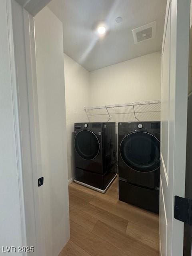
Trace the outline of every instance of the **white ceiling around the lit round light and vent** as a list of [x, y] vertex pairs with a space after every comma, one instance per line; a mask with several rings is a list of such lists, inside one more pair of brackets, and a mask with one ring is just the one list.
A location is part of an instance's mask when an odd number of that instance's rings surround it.
[[[166, 0], [52, 0], [48, 7], [63, 23], [64, 52], [89, 71], [161, 50]], [[134, 44], [132, 29], [152, 21], [156, 37]], [[103, 38], [94, 30], [99, 22], [108, 26]]]

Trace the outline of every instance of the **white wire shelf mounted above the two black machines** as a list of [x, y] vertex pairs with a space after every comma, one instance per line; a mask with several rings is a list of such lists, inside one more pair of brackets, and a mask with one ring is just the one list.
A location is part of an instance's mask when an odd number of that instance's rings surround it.
[[159, 121], [160, 100], [84, 107], [89, 122]]

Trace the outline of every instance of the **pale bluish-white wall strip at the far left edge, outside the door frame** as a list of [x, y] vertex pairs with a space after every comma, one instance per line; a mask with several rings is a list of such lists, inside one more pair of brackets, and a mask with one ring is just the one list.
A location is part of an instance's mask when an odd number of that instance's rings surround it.
[[14, 109], [16, 95], [13, 95], [15, 88], [10, 69], [9, 12], [6, 4], [7, 0], [0, 1], [0, 254], [3, 254], [2, 246], [21, 246], [24, 242], [20, 198], [22, 186], [19, 184], [19, 153], [16, 148], [15, 120], [18, 113]]

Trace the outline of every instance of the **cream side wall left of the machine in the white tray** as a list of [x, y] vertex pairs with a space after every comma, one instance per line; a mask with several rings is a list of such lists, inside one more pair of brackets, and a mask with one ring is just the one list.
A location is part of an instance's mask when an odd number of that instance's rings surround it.
[[64, 54], [65, 100], [67, 126], [68, 180], [74, 174], [74, 122], [87, 122], [84, 106], [89, 105], [90, 72]]

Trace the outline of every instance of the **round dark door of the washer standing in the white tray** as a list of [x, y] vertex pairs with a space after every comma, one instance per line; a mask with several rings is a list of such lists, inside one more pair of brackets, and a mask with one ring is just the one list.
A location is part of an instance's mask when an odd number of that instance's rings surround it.
[[84, 160], [92, 160], [99, 154], [100, 143], [94, 132], [82, 130], [75, 137], [75, 150]]

